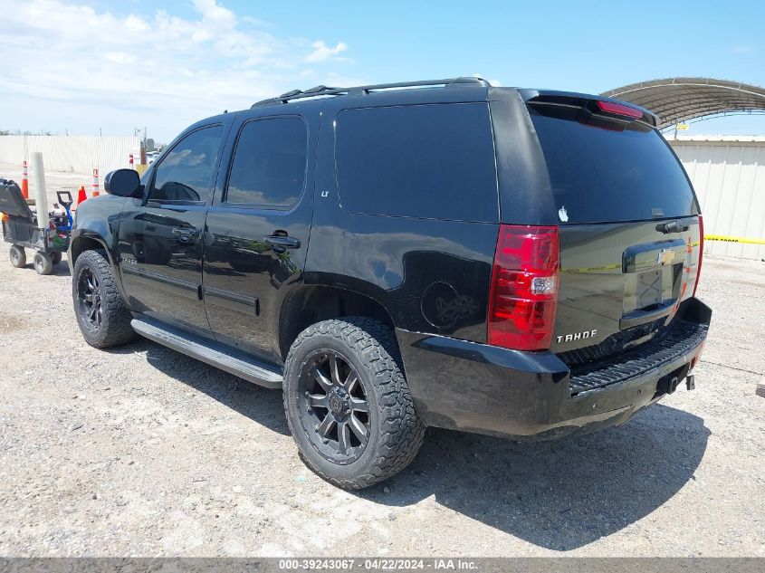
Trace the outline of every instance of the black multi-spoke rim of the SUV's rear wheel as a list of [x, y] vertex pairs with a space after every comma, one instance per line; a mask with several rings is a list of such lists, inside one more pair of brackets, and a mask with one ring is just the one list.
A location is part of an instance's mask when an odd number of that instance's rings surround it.
[[303, 362], [298, 413], [303, 432], [330, 462], [352, 463], [364, 453], [371, 422], [367, 393], [339, 352], [319, 350]]

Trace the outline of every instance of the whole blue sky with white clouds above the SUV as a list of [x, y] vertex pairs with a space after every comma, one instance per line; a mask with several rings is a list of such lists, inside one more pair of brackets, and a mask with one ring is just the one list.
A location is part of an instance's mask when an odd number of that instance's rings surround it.
[[[173, 138], [319, 83], [481, 74], [600, 92], [706, 76], [765, 85], [765, 3], [0, 0], [0, 129]], [[765, 117], [688, 133], [765, 133]]]

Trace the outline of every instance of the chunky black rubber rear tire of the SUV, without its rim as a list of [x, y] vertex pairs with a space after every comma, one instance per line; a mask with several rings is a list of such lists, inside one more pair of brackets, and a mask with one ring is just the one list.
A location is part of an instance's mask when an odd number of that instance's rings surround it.
[[[307, 416], [299, 412], [299, 379], [306, 361], [323, 350], [349, 359], [367, 396], [368, 444], [352, 463], [333, 462], [311, 442]], [[284, 410], [301, 459], [314, 473], [348, 490], [381, 482], [403, 470], [419, 452], [426, 427], [417, 415], [401, 367], [395, 335], [386, 325], [363, 317], [324, 320], [303, 330], [287, 356]]]

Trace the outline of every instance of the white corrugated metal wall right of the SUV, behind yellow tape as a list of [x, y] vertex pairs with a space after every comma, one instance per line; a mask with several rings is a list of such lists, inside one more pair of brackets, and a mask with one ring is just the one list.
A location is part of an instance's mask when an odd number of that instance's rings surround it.
[[[699, 197], [704, 234], [765, 239], [765, 138], [720, 139], [669, 142]], [[709, 241], [704, 252], [765, 259], [763, 244]]]

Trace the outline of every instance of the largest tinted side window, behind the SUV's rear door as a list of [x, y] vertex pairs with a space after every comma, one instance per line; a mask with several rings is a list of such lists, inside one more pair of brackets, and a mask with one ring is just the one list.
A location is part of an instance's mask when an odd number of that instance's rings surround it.
[[497, 177], [485, 103], [345, 110], [336, 159], [344, 209], [496, 222]]

